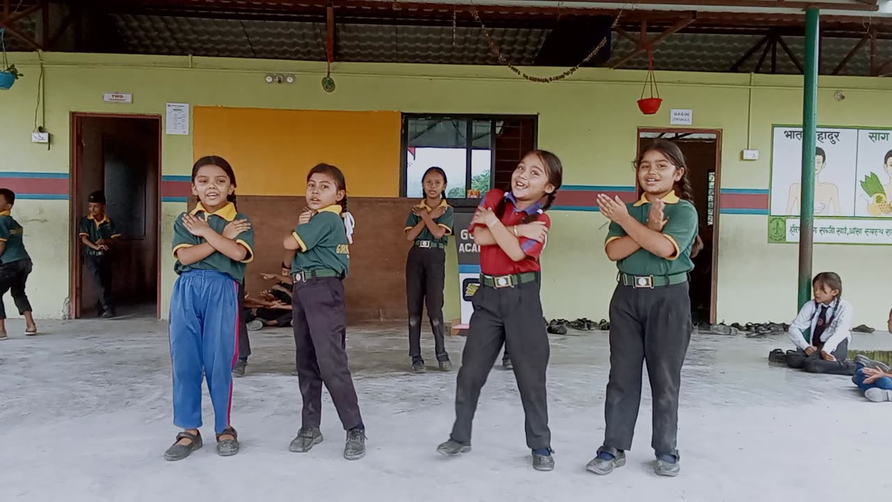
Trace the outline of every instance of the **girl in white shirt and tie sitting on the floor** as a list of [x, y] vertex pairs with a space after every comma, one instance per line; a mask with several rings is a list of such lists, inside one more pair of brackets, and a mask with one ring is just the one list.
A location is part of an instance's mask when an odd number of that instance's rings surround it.
[[842, 299], [842, 280], [834, 272], [821, 272], [814, 276], [812, 288], [814, 301], [803, 305], [787, 331], [796, 350], [784, 353], [777, 348], [769, 359], [783, 360], [790, 368], [806, 372], [853, 375], [855, 363], [846, 360], [853, 308]]

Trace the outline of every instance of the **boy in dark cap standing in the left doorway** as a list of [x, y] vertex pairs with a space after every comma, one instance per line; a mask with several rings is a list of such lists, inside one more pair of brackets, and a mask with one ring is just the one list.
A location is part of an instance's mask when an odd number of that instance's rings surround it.
[[93, 276], [99, 297], [98, 314], [110, 319], [115, 316], [111, 305], [111, 240], [120, 237], [114, 223], [105, 213], [105, 195], [102, 190], [90, 194], [88, 213], [80, 219], [80, 242], [84, 245], [84, 267]]

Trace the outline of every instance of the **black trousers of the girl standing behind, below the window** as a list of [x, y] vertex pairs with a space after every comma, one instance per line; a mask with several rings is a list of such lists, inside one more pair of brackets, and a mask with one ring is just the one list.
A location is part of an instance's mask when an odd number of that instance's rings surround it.
[[443, 282], [446, 277], [446, 250], [439, 247], [409, 249], [406, 259], [406, 300], [409, 305], [409, 356], [421, 357], [421, 315], [427, 317], [434, 333], [437, 361], [449, 361], [443, 341]]

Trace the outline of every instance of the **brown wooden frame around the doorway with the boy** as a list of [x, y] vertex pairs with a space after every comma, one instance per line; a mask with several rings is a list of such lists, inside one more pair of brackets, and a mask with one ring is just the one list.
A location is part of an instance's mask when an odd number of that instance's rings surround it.
[[78, 227], [80, 223], [80, 207], [78, 207], [78, 178], [80, 172], [81, 158], [78, 155], [78, 146], [80, 139], [80, 123], [82, 119], [99, 118], [99, 119], [149, 119], [155, 121], [158, 125], [158, 214], [154, 226], [157, 236], [157, 249], [155, 256], [157, 259], [157, 279], [155, 285], [155, 317], [161, 319], [161, 114], [149, 113], [90, 113], [90, 112], [72, 112], [70, 116], [70, 148], [69, 161], [71, 170], [69, 174], [69, 238], [71, 245], [69, 249], [69, 305], [68, 315], [70, 319], [78, 318], [80, 310], [80, 295], [78, 295], [78, 285], [83, 280], [83, 267], [80, 261], [80, 239], [78, 238]]

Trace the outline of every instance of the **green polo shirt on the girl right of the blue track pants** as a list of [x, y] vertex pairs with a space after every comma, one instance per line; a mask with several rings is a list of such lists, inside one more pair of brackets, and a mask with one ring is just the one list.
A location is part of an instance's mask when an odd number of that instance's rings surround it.
[[292, 236], [300, 247], [291, 262], [292, 273], [330, 269], [347, 277], [350, 243], [343, 228], [340, 205], [320, 209], [310, 222], [298, 225]]

